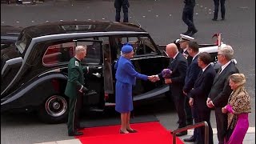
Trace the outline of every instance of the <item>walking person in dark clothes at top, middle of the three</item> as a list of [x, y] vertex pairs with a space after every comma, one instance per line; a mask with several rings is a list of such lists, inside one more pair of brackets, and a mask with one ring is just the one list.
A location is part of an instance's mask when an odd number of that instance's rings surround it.
[[198, 32], [198, 30], [194, 26], [194, 6], [195, 6], [195, 0], [184, 0], [185, 6], [183, 8], [182, 12], [182, 20], [187, 25], [187, 30], [185, 35], [193, 36], [195, 33]]

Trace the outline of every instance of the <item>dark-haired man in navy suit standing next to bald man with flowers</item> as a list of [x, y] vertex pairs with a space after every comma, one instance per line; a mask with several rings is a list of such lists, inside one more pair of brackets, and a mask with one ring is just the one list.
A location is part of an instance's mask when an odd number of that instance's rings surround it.
[[[183, 94], [185, 94], [187, 103], [186, 105], [189, 105], [189, 98], [187, 97], [187, 94], [190, 93], [190, 90], [194, 87], [194, 82], [198, 78], [198, 74], [200, 73], [200, 67], [198, 66], [198, 54], [199, 54], [199, 46], [198, 42], [190, 41], [187, 47], [187, 51], [190, 54], [190, 57], [192, 57], [192, 62], [188, 66], [186, 70], [186, 78], [185, 78], [185, 85], [183, 86]], [[198, 122], [198, 114], [196, 111], [193, 110], [193, 107], [188, 107], [188, 109], [191, 110], [194, 122]], [[188, 123], [188, 125], [192, 125], [193, 123]], [[194, 142], [198, 140], [198, 128], [195, 128], [194, 134], [190, 138], [185, 138], [185, 142]]]

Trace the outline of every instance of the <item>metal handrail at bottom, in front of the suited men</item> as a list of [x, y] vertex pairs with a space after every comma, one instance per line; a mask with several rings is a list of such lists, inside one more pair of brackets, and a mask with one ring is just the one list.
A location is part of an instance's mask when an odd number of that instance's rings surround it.
[[209, 143], [209, 141], [208, 141], [208, 139], [209, 139], [209, 126], [208, 126], [208, 123], [206, 121], [198, 122], [194, 125], [182, 127], [180, 129], [172, 131], [171, 133], [173, 135], [173, 144], [176, 144], [176, 133], [180, 133], [182, 131], [197, 128], [197, 127], [201, 127], [201, 126], [205, 126], [205, 144], [208, 144]]

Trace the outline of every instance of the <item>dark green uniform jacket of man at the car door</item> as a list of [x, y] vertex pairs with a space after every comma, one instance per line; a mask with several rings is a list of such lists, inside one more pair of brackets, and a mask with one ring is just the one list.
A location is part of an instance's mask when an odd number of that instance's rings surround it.
[[83, 73], [87, 73], [87, 67], [82, 68], [80, 60], [71, 58], [68, 65], [68, 81], [66, 84], [65, 94], [69, 98], [77, 98], [78, 90], [84, 85]]

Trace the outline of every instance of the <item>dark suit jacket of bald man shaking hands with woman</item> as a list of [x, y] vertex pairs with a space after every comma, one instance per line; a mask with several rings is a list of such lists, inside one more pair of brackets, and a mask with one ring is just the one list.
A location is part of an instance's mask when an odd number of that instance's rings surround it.
[[[171, 85], [183, 86], [187, 69], [186, 58], [181, 53], [178, 53], [176, 58], [170, 59], [170, 66], [168, 68], [172, 71], [172, 74], [170, 74]], [[160, 73], [158, 76], [160, 78], [162, 74]]]

